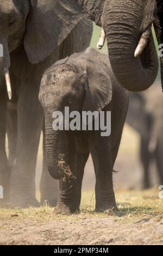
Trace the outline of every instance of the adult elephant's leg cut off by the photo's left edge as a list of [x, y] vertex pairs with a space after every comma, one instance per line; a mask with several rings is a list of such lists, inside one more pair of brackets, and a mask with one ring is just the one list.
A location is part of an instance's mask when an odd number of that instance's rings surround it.
[[0, 86], [0, 120], [0, 185], [3, 186], [3, 199], [0, 202], [3, 204], [9, 200], [11, 169], [5, 150], [7, 101], [2, 84]]

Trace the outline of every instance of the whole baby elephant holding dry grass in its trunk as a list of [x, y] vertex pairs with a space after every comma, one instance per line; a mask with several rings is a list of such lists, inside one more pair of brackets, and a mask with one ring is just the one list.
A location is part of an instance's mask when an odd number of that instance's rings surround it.
[[45, 112], [48, 171], [59, 179], [59, 212], [79, 210], [89, 154], [96, 174], [96, 210], [116, 209], [112, 172], [129, 93], [112, 74], [108, 56], [87, 48], [55, 63], [43, 75], [39, 100]]

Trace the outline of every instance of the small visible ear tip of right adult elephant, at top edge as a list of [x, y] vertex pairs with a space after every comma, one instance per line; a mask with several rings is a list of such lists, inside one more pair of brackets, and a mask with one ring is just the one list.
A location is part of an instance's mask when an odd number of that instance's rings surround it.
[[90, 20], [95, 21], [96, 25], [102, 27], [101, 16], [105, 0], [76, 0], [76, 2], [83, 7]]

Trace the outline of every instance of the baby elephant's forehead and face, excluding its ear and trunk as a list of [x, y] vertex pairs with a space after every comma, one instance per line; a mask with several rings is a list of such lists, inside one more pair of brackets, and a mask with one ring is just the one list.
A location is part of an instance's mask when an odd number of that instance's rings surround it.
[[53, 65], [43, 75], [39, 100], [45, 114], [64, 111], [65, 107], [77, 110], [82, 107], [84, 98], [85, 75], [77, 67]]

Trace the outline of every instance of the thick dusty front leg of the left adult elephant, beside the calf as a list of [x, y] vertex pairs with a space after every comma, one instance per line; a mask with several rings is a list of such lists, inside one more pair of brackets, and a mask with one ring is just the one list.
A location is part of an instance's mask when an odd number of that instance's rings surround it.
[[17, 104], [18, 136], [11, 200], [21, 207], [39, 205], [35, 198], [36, 157], [43, 124], [43, 111], [38, 99], [39, 86], [40, 78], [23, 84]]

